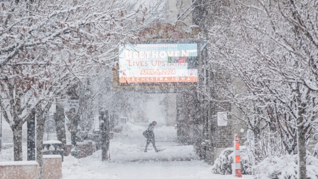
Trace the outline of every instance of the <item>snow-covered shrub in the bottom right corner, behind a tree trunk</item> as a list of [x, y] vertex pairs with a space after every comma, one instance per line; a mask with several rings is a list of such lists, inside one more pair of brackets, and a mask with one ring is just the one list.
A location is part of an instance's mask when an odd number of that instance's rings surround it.
[[[297, 155], [267, 157], [252, 168], [254, 179], [295, 179], [297, 178]], [[307, 155], [307, 179], [318, 178], [318, 159]]]

